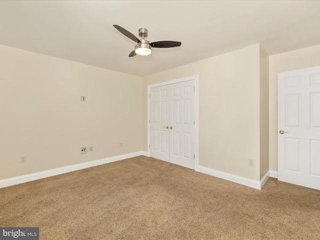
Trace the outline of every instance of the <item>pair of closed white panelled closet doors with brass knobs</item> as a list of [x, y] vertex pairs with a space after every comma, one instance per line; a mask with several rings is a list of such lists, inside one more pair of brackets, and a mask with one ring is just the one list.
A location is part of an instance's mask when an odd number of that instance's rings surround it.
[[150, 156], [194, 169], [194, 80], [150, 88]]

